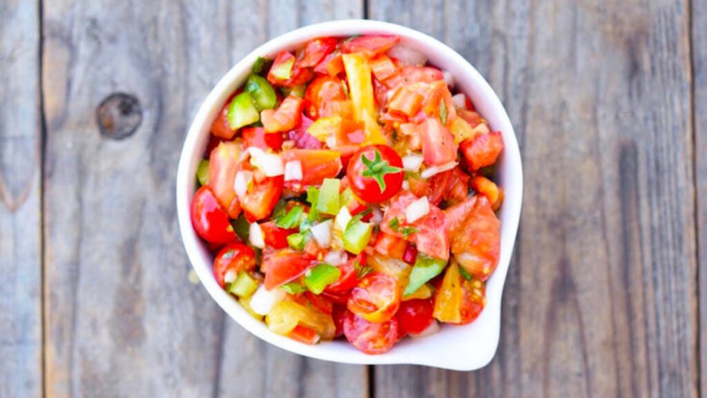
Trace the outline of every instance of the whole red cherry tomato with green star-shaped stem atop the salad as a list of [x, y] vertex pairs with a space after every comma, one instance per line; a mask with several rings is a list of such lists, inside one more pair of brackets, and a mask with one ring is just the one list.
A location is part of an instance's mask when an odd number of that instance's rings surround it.
[[387, 145], [368, 145], [349, 160], [346, 176], [351, 191], [368, 203], [380, 203], [393, 197], [404, 178], [402, 159]]

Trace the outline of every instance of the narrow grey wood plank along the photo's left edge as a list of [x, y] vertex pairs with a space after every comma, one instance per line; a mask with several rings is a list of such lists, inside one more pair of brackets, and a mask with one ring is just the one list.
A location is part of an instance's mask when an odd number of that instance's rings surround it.
[[0, 2], [0, 397], [42, 394], [42, 123], [36, 1]]

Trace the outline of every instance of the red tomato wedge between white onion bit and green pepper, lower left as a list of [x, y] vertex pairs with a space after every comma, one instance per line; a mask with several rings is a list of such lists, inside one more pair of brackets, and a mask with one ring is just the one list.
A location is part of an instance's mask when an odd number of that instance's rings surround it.
[[263, 251], [260, 270], [265, 273], [265, 288], [271, 290], [279, 285], [295, 280], [315, 265], [293, 249], [267, 249]]

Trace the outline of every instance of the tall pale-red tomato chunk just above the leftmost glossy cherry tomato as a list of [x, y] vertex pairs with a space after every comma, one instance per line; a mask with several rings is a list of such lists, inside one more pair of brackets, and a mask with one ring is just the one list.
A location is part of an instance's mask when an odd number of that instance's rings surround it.
[[209, 159], [209, 186], [230, 218], [240, 214], [240, 203], [233, 189], [238, 173], [241, 147], [238, 142], [221, 142]]

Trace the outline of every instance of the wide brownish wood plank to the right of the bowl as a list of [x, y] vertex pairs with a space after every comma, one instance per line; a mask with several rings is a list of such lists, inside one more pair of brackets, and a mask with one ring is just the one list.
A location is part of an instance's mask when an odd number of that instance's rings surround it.
[[444, 40], [489, 78], [526, 181], [496, 358], [475, 373], [379, 367], [377, 394], [695, 396], [686, 2], [369, 8]]

